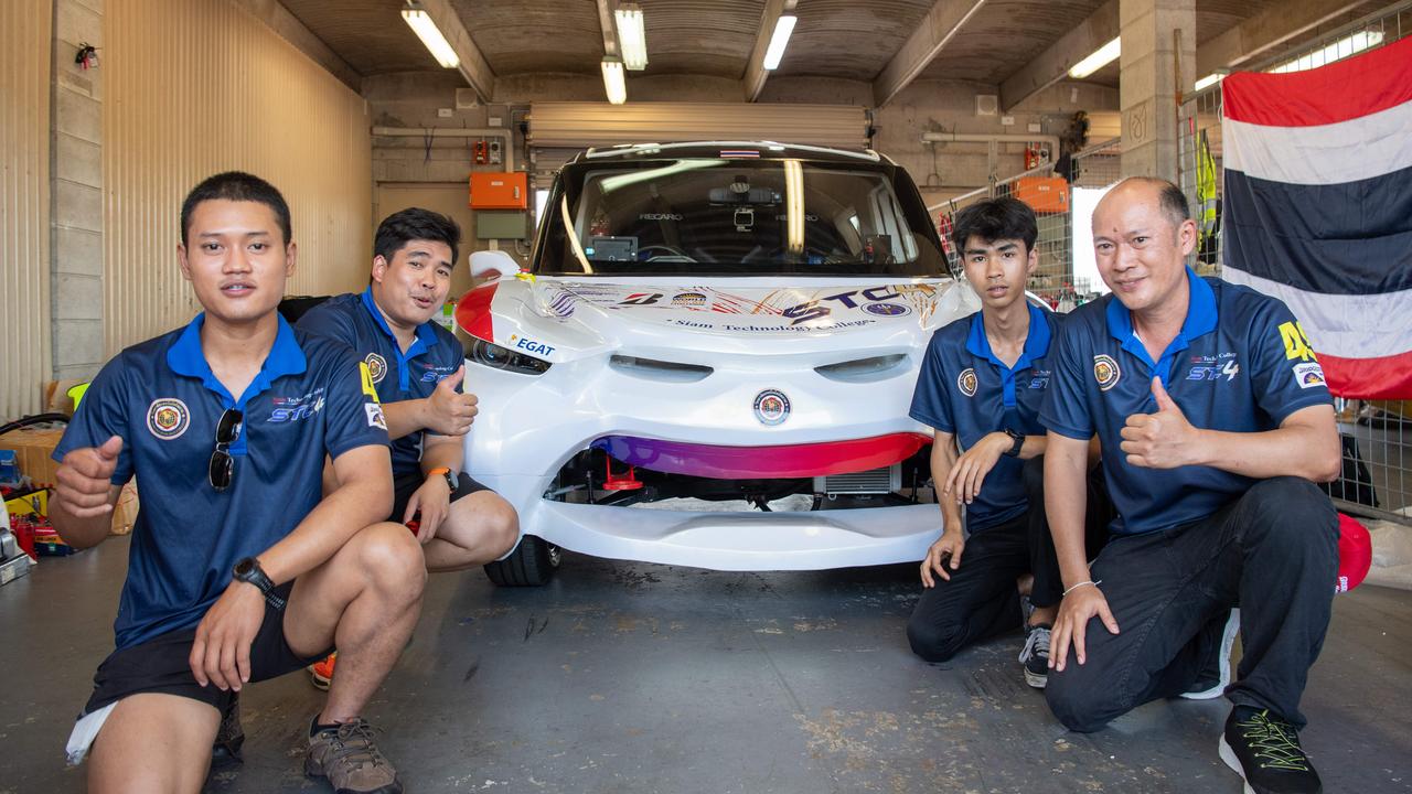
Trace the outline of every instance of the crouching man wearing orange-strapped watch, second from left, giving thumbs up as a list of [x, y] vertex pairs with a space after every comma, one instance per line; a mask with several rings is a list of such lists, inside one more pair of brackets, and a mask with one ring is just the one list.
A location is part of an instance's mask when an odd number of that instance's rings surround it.
[[[373, 277], [363, 292], [309, 309], [299, 328], [337, 339], [367, 365], [393, 439], [393, 521], [412, 523], [429, 571], [500, 559], [520, 540], [514, 507], [462, 472], [462, 437], [476, 417], [465, 391], [465, 353], [432, 322], [450, 291], [460, 227], [411, 208], [387, 216], [373, 239]], [[333, 660], [312, 667], [328, 685]]]

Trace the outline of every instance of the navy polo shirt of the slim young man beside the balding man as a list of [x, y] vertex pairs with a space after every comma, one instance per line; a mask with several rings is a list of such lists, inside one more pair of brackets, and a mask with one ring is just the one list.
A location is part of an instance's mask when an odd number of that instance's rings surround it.
[[[962, 449], [1005, 428], [1043, 435], [1039, 407], [1049, 389], [1049, 339], [1056, 322], [1053, 312], [1029, 307], [1029, 335], [1014, 367], [991, 352], [981, 312], [939, 328], [916, 377], [912, 418], [955, 434]], [[967, 530], [1001, 524], [1028, 509], [1022, 469], [1024, 463], [1008, 455], [995, 462], [980, 493], [966, 506]]]

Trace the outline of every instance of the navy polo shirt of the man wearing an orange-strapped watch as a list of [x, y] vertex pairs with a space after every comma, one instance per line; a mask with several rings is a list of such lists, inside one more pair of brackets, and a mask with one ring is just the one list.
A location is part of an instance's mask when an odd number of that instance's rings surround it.
[[[456, 335], [431, 321], [417, 326], [417, 338], [404, 353], [387, 318], [373, 302], [371, 287], [313, 307], [299, 318], [299, 328], [352, 346], [367, 363], [377, 397], [384, 404], [431, 397], [436, 384], [455, 374], [466, 360]], [[460, 390], [457, 386], [456, 391]], [[422, 432], [393, 439], [393, 475], [421, 470]]]

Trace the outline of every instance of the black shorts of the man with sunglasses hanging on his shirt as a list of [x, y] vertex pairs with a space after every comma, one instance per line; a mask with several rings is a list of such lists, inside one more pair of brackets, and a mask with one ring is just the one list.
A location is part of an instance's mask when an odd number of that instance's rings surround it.
[[[294, 582], [277, 588], [288, 600]], [[202, 687], [191, 674], [191, 646], [196, 640], [196, 627], [169, 632], [145, 643], [113, 651], [93, 674], [93, 695], [83, 713], [117, 702], [140, 692], [162, 692], [181, 695], [203, 704], [210, 704], [222, 713], [230, 706], [232, 691], [220, 691], [215, 684]], [[308, 667], [333, 653], [329, 648], [321, 654], [304, 658], [294, 653], [284, 639], [284, 610], [265, 603], [265, 619], [260, 632], [250, 643], [250, 682], [278, 678], [285, 672]]]

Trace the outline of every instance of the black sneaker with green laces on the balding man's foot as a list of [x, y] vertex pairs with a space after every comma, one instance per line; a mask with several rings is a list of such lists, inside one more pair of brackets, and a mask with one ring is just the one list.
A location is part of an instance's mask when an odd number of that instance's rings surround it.
[[1293, 725], [1268, 709], [1237, 705], [1226, 718], [1221, 760], [1245, 778], [1245, 794], [1320, 794], [1323, 784]]

